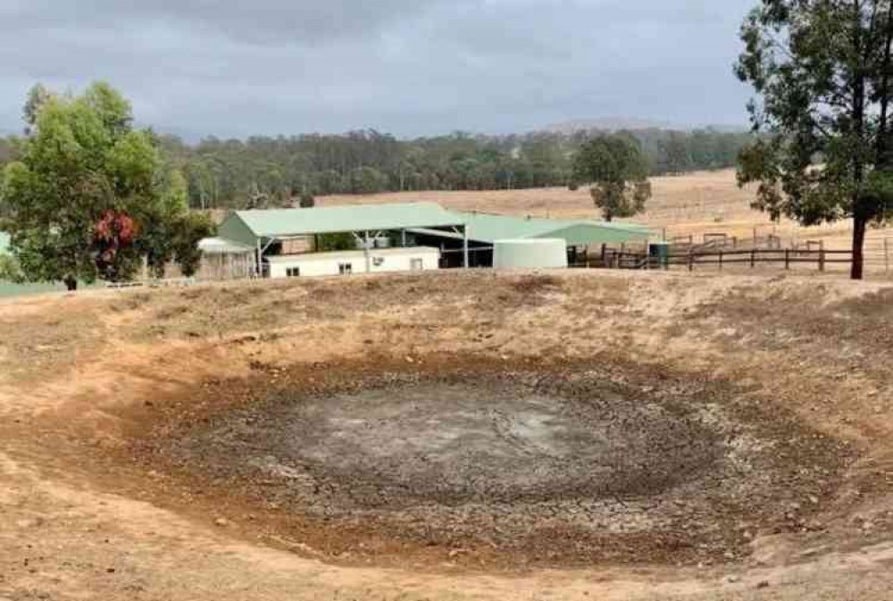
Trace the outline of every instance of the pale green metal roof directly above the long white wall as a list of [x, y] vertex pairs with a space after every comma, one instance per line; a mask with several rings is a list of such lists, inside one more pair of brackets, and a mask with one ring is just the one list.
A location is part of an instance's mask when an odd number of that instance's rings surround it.
[[463, 217], [436, 203], [345, 205], [313, 209], [237, 211], [259, 238], [288, 238], [364, 230], [408, 230], [463, 225]]

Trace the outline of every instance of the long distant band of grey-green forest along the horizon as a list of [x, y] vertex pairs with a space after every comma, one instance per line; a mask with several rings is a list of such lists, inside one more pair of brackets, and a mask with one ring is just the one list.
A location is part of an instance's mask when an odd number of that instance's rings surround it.
[[[653, 175], [736, 163], [748, 133], [714, 129], [627, 132], [645, 149]], [[159, 135], [167, 177], [186, 179], [199, 208], [290, 205], [301, 196], [415, 190], [494, 190], [572, 185], [572, 157], [598, 132], [530, 133], [399, 140], [374, 130], [343, 135], [221, 140], [197, 145]], [[0, 140], [0, 163], [13, 157]]]

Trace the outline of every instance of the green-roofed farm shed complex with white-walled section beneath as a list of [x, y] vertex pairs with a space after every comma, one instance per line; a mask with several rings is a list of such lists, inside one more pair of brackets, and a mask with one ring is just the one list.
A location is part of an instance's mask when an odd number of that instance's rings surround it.
[[[411, 203], [236, 211], [221, 223], [217, 244], [243, 253], [254, 249], [258, 274], [288, 277], [427, 270], [436, 268], [435, 254], [438, 267], [492, 267], [497, 240], [562, 239], [570, 256], [592, 246], [646, 242], [649, 235], [631, 224], [461, 213]], [[346, 237], [350, 248], [317, 253], [332, 246], [333, 236], [342, 246]], [[349, 270], [339, 267], [347, 264]]]

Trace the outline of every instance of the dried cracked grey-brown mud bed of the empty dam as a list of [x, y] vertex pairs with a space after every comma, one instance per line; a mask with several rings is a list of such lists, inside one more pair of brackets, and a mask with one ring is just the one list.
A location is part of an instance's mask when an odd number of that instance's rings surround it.
[[758, 528], [808, 529], [810, 499], [851, 457], [741, 390], [638, 366], [332, 365], [277, 380], [207, 390], [215, 409], [140, 452], [341, 549], [731, 561]]

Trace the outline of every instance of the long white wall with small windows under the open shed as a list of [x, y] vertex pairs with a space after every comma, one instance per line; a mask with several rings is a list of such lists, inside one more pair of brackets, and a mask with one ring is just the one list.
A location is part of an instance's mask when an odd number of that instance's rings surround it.
[[[380, 264], [376, 265], [376, 259], [380, 259]], [[421, 259], [422, 269], [424, 271], [436, 270], [439, 268], [440, 251], [437, 248], [420, 248], [416, 252], [401, 252], [400, 254], [381, 253], [371, 250], [369, 252], [369, 263], [371, 273], [380, 273], [388, 271], [411, 271], [413, 259]], [[338, 275], [338, 263], [350, 263], [353, 267], [353, 273], [366, 272], [366, 259], [363, 255], [350, 254], [347, 256], [331, 255], [324, 253], [321, 255], [301, 255], [286, 260], [276, 260], [270, 263], [271, 278], [288, 277], [288, 269], [297, 267], [301, 270], [301, 277], [308, 278], [314, 276]]]

